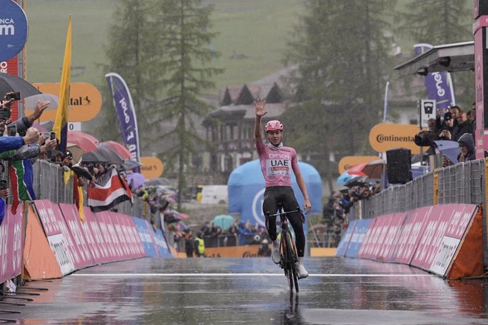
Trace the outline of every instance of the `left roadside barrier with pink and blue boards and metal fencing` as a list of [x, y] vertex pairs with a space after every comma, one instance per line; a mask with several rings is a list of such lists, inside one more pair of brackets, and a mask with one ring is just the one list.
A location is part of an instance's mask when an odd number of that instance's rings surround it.
[[133, 205], [115, 206], [117, 212], [93, 213], [84, 206], [82, 222], [73, 179], [65, 184], [62, 168], [45, 160], [37, 161], [33, 170], [37, 200], [25, 201], [16, 214], [8, 204], [0, 226], [0, 302], [7, 297], [7, 280], [21, 285], [24, 280], [61, 278], [95, 264], [174, 256], [159, 213], [151, 214], [138, 197]]

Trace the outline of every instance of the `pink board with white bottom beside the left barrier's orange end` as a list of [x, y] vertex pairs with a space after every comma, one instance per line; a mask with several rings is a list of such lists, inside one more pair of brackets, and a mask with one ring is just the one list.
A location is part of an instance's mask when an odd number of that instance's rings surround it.
[[65, 276], [75, 271], [76, 265], [80, 265], [80, 256], [59, 206], [49, 200], [34, 201], [34, 206], [61, 273]]

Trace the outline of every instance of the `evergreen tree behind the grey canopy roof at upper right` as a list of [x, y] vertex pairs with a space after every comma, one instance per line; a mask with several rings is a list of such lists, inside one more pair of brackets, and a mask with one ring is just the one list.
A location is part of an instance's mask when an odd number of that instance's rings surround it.
[[[416, 43], [443, 45], [470, 41], [473, 39], [471, 6], [472, 1], [466, 0], [411, 0], [407, 11], [399, 16], [402, 23], [398, 31]], [[475, 101], [474, 74], [458, 71], [451, 73], [451, 77], [456, 103], [470, 110]]]

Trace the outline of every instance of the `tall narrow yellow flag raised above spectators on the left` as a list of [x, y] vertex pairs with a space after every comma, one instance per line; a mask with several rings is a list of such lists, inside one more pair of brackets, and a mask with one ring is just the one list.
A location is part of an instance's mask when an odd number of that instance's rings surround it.
[[56, 132], [59, 141], [59, 151], [66, 152], [68, 137], [68, 105], [71, 70], [71, 15], [69, 15], [68, 35], [64, 47], [63, 71], [61, 73], [61, 85], [59, 86], [59, 103], [57, 105], [56, 119], [52, 131]]

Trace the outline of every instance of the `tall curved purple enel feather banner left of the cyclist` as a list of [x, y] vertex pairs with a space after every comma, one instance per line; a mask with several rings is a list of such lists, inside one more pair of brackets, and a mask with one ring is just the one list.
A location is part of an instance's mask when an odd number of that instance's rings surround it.
[[[140, 162], [141, 155], [139, 154], [139, 131], [137, 130], [136, 112], [134, 110], [134, 102], [129, 92], [129, 87], [124, 79], [117, 73], [107, 73], [105, 78], [108, 82], [108, 88], [112, 93], [115, 111], [119, 118], [120, 131], [122, 138], [124, 138], [125, 146], [132, 154], [132, 160]], [[136, 172], [141, 172], [139, 167]]]

